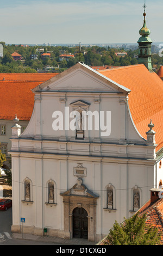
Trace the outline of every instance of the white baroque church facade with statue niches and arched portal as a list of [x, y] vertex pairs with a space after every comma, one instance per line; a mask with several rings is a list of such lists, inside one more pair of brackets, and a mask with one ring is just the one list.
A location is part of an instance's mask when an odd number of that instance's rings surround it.
[[[24, 233], [43, 235], [46, 228], [50, 236], [99, 241], [156, 185], [152, 122], [143, 138], [131, 117], [130, 89], [80, 62], [33, 93], [26, 130], [20, 135], [21, 126], [12, 127], [12, 231], [21, 232], [24, 217]], [[85, 129], [70, 129], [73, 111], [98, 113], [99, 122], [92, 118], [89, 130], [86, 115]]]

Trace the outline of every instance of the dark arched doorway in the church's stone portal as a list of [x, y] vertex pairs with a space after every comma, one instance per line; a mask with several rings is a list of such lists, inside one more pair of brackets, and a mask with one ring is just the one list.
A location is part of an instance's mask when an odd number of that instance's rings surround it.
[[73, 210], [73, 237], [85, 238], [88, 236], [87, 211], [84, 208]]

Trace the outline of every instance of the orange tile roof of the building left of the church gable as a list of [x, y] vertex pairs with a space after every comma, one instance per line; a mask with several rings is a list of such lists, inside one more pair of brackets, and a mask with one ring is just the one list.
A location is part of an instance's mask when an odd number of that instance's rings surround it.
[[54, 73], [0, 74], [0, 119], [30, 120], [34, 107], [34, 87], [56, 76]]

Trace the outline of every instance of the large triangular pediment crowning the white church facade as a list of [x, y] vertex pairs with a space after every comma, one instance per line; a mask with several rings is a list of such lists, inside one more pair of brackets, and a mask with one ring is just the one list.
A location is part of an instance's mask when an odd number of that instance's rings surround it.
[[110, 92], [128, 93], [129, 89], [117, 84], [89, 66], [77, 63], [70, 69], [33, 89], [33, 92]]

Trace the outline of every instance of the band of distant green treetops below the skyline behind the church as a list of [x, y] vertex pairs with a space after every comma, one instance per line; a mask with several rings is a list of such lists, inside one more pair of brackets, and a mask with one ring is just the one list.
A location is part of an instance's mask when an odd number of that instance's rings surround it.
[[[23, 45], [5, 45], [5, 42], [0, 42], [3, 45], [3, 57], [0, 58], [0, 72], [37, 72], [37, 69], [43, 69], [45, 66], [55, 67], [56, 72], [62, 72], [63, 70], [70, 68], [76, 64], [79, 60], [83, 61], [89, 66], [127, 66], [138, 64], [137, 59], [134, 58], [134, 54], [138, 54], [138, 50], [126, 51], [127, 55], [124, 57], [116, 56], [115, 52], [124, 52], [124, 49], [117, 48], [105, 48], [99, 46], [86, 47], [82, 46], [82, 51], [79, 52], [79, 47], [67, 47], [67, 46], [23, 46]], [[39, 52], [39, 49], [42, 52]], [[17, 52], [21, 54], [22, 59], [15, 61], [11, 54]], [[74, 58], [69, 60], [60, 60], [59, 56], [61, 52], [65, 54], [74, 54]], [[51, 53], [51, 58], [42, 58], [42, 53]], [[36, 54], [36, 59], [31, 59], [30, 55]], [[155, 65], [163, 64], [163, 57], [159, 57], [158, 54], [152, 55], [152, 63]]]

